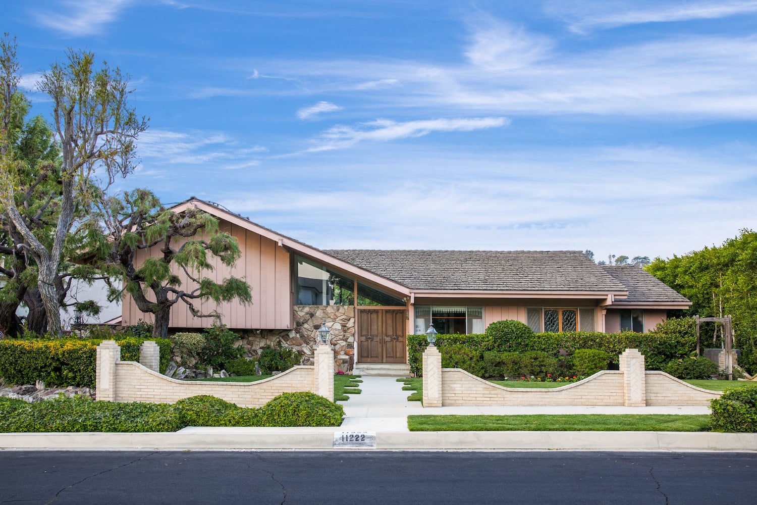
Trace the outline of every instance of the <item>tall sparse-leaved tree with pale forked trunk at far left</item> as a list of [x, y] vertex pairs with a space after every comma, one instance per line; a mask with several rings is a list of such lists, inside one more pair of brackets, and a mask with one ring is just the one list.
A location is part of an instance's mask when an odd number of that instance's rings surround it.
[[[8, 42], [8, 37], [5, 39]], [[2, 83], [5, 101], [18, 84], [15, 44], [3, 45]], [[3, 153], [0, 171], [0, 204], [8, 219], [23, 237], [28, 253], [36, 262], [37, 287], [52, 334], [61, 335], [60, 298], [55, 284], [64, 256], [67, 235], [77, 210], [86, 210], [92, 198], [133, 170], [135, 141], [147, 129], [147, 119], [137, 117], [129, 107], [128, 78], [103, 62], [95, 67], [95, 57], [87, 51], [67, 51], [64, 64], [52, 64], [42, 74], [38, 88], [52, 99], [52, 124], [61, 158], [54, 170], [40, 170], [32, 181], [24, 181], [20, 161], [12, 151]], [[17, 195], [34, 191], [51, 178], [60, 181], [57, 220], [49, 236], [29, 226]]]

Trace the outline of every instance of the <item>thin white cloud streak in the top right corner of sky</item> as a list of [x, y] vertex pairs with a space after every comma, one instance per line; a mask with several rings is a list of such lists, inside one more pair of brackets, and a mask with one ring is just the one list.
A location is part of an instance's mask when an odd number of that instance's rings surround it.
[[732, 0], [728, 2], [653, 2], [634, 4], [634, 8], [625, 9], [615, 3], [590, 5], [575, 2], [555, 2], [548, 11], [562, 14], [571, 20], [571, 30], [584, 33], [593, 28], [613, 28], [640, 23], [669, 23], [673, 21], [690, 21], [716, 19], [737, 14], [757, 12], [754, 0]]

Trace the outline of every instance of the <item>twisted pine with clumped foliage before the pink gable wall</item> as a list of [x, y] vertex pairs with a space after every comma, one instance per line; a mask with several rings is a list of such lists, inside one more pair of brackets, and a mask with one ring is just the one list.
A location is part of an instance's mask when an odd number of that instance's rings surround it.
[[[195, 207], [173, 212], [145, 189], [125, 192], [121, 198], [103, 195], [95, 206], [98, 210], [83, 237], [83, 242], [96, 245], [89, 251], [89, 263], [123, 279], [121, 289], [132, 295], [139, 310], [154, 315], [154, 337], [167, 336], [171, 307], [179, 301], [195, 317], [218, 320], [220, 313], [204, 313], [193, 301], [251, 303], [250, 286], [244, 279], [230, 276], [215, 282], [204, 275], [213, 270], [209, 253], [227, 267], [241, 254], [236, 238], [220, 232], [218, 220], [207, 212]], [[138, 251], [149, 248], [162, 255], [145, 257], [139, 264]], [[182, 286], [177, 271], [184, 273], [192, 286]], [[111, 288], [111, 298], [119, 298], [121, 291], [114, 285]]]

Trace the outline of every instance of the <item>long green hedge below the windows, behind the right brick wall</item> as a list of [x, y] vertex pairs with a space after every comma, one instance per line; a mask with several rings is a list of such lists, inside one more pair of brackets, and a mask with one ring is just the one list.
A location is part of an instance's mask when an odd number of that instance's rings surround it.
[[[484, 353], [487, 351], [519, 353], [542, 351], [564, 360], [565, 366], [570, 366], [572, 357], [578, 349], [604, 351], [609, 354], [613, 363], [618, 363], [618, 355], [631, 348], [638, 349], [644, 355], [646, 369], [661, 370], [671, 360], [685, 357], [696, 348], [695, 323], [690, 317], [671, 318], [648, 333], [534, 333], [530, 338], [525, 338], [528, 332], [522, 328], [522, 323], [518, 325], [505, 323], [507, 322], [492, 323], [487, 328], [488, 334], [438, 335], [436, 345], [442, 354], [442, 359], [444, 360], [447, 352], [444, 349], [450, 345], [456, 345], [466, 348], [465, 360], [469, 361], [467, 366], [474, 369], [478, 367], [476, 363], [483, 361]], [[494, 329], [490, 331], [492, 326]], [[410, 370], [416, 376], [422, 374], [422, 354], [426, 345], [425, 335], [407, 335], [408, 363]], [[450, 358], [450, 360], [455, 359], [463, 360], [463, 357]]]

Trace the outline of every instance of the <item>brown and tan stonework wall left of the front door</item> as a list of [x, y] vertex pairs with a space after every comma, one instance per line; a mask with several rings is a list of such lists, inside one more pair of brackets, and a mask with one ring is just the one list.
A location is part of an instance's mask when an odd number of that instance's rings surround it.
[[334, 369], [350, 372], [355, 363], [355, 309], [351, 305], [295, 305], [294, 329], [235, 331], [241, 337], [238, 344], [245, 346], [250, 357], [260, 356], [266, 345], [283, 346], [297, 351], [301, 364], [312, 365], [321, 323], [326, 323], [331, 332]]

